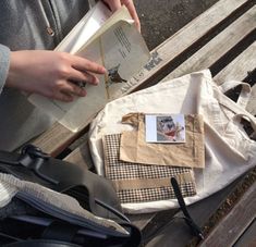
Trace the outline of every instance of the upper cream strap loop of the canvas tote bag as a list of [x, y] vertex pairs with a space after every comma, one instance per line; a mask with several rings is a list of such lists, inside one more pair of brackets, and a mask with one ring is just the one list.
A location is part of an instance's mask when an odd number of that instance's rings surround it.
[[232, 88], [235, 88], [237, 86], [242, 86], [242, 90], [239, 95], [239, 99], [237, 99], [237, 104], [240, 107], [242, 107], [243, 109], [246, 108], [249, 97], [251, 97], [251, 92], [252, 92], [252, 88], [249, 86], [249, 84], [247, 83], [242, 83], [242, 82], [237, 82], [237, 81], [228, 81], [224, 82], [223, 84], [221, 84], [219, 86], [219, 89], [225, 94], [227, 91], [229, 91]]

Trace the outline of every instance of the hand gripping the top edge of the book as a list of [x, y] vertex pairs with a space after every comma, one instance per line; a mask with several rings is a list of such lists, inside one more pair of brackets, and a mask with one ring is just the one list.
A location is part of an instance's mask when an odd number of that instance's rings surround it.
[[141, 32], [141, 22], [137, 16], [137, 12], [134, 7], [133, 0], [102, 0], [102, 1], [106, 2], [109, 5], [109, 8], [111, 9], [111, 11], [113, 11], [113, 12], [115, 10], [120, 9], [121, 5], [125, 5], [127, 8], [131, 16], [133, 17], [137, 29]]

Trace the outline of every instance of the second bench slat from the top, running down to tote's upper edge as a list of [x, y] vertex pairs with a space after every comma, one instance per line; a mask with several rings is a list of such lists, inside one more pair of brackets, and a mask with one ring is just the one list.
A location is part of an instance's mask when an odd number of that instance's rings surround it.
[[[256, 5], [206, 44], [163, 81], [210, 67], [255, 29], [254, 16], [256, 16]], [[241, 66], [241, 71], [244, 71], [244, 66]]]

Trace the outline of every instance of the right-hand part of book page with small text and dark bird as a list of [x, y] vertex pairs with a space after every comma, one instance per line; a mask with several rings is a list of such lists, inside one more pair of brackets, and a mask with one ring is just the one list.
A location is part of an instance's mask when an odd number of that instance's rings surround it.
[[102, 63], [108, 70], [106, 82], [108, 99], [115, 98], [115, 92], [147, 63], [149, 51], [133, 24], [120, 21], [100, 37]]

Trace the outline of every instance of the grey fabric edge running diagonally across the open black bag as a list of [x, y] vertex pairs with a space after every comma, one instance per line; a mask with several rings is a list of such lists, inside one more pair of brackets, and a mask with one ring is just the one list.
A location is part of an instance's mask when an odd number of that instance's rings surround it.
[[[0, 173], [0, 211], [7, 207], [13, 198], [44, 210], [52, 217], [59, 218], [70, 223], [81, 226], [92, 226], [93, 229], [105, 227], [127, 235], [129, 233], [117, 222], [94, 215], [92, 212], [81, 207], [80, 202], [71, 196], [57, 193], [39, 184], [22, 181], [13, 175]], [[20, 207], [20, 206], [19, 206]], [[24, 209], [20, 209], [21, 211]], [[19, 212], [16, 212], [19, 213]], [[2, 213], [1, 217], [3, 218]]]

